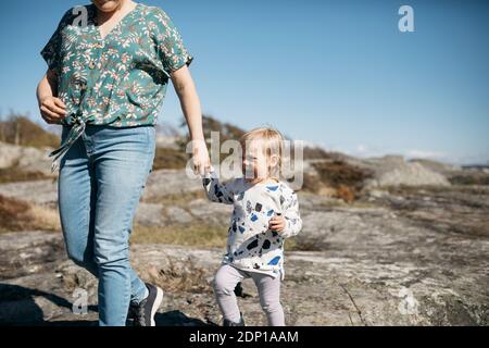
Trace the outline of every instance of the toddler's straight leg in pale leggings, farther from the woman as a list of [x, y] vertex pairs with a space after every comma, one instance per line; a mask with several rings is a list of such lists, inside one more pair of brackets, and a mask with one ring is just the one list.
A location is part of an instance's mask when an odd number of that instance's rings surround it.
[[280, 276], [251, 273], [260, 295], [260, 304], [266, 313], [269, 326], [285, 326], [284, 309], [280, 304]]

